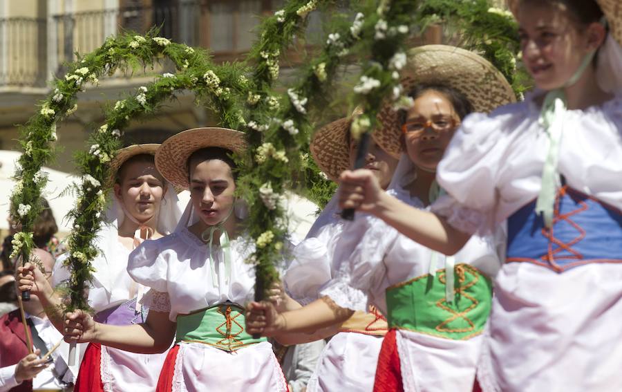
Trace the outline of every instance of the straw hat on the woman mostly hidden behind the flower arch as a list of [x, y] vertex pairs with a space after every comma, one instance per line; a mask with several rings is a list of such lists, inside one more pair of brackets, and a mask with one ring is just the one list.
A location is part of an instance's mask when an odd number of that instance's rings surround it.
[[350, 117], [325, 125], [313, 136], [309, 146], [311, 155], [330, 180], [337, 182], [341, 172], [350, 169], [350, 126], [361, 113], [357, 108]]

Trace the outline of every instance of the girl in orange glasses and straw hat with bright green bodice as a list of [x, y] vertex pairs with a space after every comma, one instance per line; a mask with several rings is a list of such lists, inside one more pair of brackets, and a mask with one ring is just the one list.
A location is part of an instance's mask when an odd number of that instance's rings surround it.
[[[514, 98], [505, 78], [474, 53], [423, 46], [409, 55], [411, 75], [402, 84], [413, 106], [399, 115], [384, 109], [383, 126], [374, 135], [387, 151], [402, 153], [390, 192], [423, 210], [440, 192], [435, 170], [462, 118], [473, 106], [490, 111]], [[362, 237], [349, 236], [361, 226]], [[387, 316], [390, 331], [375, 391], [471, 391], [503, 239], [502, 234], [473, 238], [455, 258], [444, 258], [373, 216], [361, 216], [344, 229], [336, 248], [354, 243], [354, 250], [336, 257], [339, 274], [321, 295], [342, 309], [364, 310], [371, 303]], [[317, 323], [339, 317], [321, 302], [311, 306]], [[308, 328], [298, 310], [275, 316], [265, 315], [269, 333]]]

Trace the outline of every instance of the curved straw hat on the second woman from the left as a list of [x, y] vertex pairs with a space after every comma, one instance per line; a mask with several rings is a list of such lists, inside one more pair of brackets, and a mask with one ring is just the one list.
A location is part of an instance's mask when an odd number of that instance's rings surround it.
[[194, 128], [171, 136], [156, 152], [156, 167], [170, 183], [189, 189], [188, 158], [200, 149], [220, 147], [234, 153], [247, 149], [244, 133], [227, 128]]

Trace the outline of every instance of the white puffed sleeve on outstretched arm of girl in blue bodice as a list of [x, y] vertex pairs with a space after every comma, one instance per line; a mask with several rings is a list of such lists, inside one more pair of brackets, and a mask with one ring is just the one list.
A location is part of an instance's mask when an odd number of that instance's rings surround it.
[[525, 104], [513, 104], [464, 119], [438, 165], [437, 181], [446, 195], [436, 200], [433, 212], [462, 232], [492, 232], [498, 180], [509, 164], [507, 151], [516, 136], [512, 130], [525, 120], [525, 113]]

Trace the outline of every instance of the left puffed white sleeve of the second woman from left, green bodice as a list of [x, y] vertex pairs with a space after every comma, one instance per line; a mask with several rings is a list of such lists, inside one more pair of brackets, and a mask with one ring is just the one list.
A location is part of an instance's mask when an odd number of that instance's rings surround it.
[[128, 259], [127, 272], [136, 282], [167, 292], [169, 261], [160, 240], [147, 240], [133, 250]]

